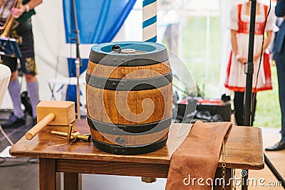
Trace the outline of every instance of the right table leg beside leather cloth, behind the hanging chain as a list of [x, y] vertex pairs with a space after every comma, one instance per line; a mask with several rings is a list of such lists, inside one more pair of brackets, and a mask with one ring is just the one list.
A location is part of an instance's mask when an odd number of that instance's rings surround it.
[[[217, 189], [221, 189], [222, 188], [222, 170], [221, 168], [217, 168], [216, 174], [214, 176], [214, 190]], [[226, 169], [226, 186], [225, 186], [225, 190], [232, 190], [232, 169], [231, 168], [227, 168]]]

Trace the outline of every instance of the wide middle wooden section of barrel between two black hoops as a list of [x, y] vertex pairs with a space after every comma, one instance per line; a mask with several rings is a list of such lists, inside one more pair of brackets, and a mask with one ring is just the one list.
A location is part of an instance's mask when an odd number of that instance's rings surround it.
[[[115, 100], [115, 96], [118, 100]], [[101, 122], [120, 125], [140, 125], [157, 122], [172, 115], [172, 85], [141, 91], [113, 91], [86, 85], [88, 117]], [[127, 99], [125, 99], [127, 97]], [[154, 103], [152, 115], [142, 120], [142, 101], [149, 98]], [[128, 100], [128, 101], [126, 101]], [[130, 110], [125, 105], [128, 104]], [[127, 119], [122, 116], [127, 115]]]

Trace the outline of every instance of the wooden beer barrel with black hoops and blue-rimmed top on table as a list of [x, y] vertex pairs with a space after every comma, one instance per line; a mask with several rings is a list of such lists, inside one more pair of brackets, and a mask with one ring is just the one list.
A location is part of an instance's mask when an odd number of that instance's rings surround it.
[[172, 121], [172, 71], [165, 46], [150, 42], [93, 46], [86, 106], [98, 149], [143, 154], [163, 147]]

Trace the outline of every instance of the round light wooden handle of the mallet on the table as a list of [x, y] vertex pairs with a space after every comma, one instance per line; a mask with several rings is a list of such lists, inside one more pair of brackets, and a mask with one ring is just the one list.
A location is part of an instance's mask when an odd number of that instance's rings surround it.
[[26, 134], [25, 134], [26, 139], [28, 139], [28, 140], [33, 139], [33, 137], [35, 137], [36, 134], [38, 134], [38, 132], [43, 130], [43, 127], [46, 127], [46, 125], [48, 125], [48, 123], [50, 123], [52, 120], [54, 120], [55, 117], [56, 117], [56, 115], [53, 112], [51, 112], [48, 115], [46, 115], [45, 117], [43, 117], [43, 119], [41, 121], [39, 121], [35, 126], [33, 126], [33, 128], [31, 128], [31, 130], [26, 132]]

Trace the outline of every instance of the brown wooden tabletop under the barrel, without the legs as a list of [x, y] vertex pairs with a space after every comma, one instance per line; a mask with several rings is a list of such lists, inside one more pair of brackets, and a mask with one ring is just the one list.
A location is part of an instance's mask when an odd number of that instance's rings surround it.
[[[170, 164], [170, 157], [190, 131], [190, 124], [172, 125], [167, 145], [148, 154], [116, 155], [102, 152], [93, 142], [68, 142], [65, 137], [50, 134], [51, 130], [67, 132], [68, 127], [47, 126], [36, 137], [22, 137], [10, 149], [14, 157], [50, 159], [96, 160], [105, 162], [130, 162], [147, 164]], [[90, 133], [86, 120], [76, 120], [73, 130]], [[232, 127], [226, 139], [227, 168], [263, 169], [264, 157], [262, 135], [259, 127]], [[219, 166], [222, 159], [219, 159]]]

